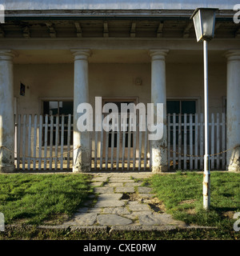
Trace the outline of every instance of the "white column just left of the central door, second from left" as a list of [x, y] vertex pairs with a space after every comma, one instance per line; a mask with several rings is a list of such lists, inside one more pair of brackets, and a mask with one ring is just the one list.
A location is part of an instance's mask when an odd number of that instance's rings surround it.
[[77, 128], [77, 113], [80, 103], [89, 102], [88, 57], [90, 50], [71, 50], [74, 54], [74, 172], [90, 171], [90, 132], [80, 132]]

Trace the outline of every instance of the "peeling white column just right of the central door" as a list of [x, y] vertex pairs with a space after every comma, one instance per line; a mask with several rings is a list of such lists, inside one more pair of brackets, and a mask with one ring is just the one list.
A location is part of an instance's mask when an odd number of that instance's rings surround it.
[[[163, 103], [163, 136], [160, 140], [151, 141], [152, 171], [164, 172], [167, 166], [167, 141], [166, 141], [166, 64], [165, 56], [168, 50], [150, 50], [151, 64], [151, 102]], [[154, 108], [154, 120], [156, 120]]]

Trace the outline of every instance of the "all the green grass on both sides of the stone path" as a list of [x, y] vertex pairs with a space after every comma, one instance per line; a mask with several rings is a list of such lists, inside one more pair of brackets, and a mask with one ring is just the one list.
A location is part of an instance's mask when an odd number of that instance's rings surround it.
[[[0, 174], [0, 212], [5, 224], [61, 224], [70, 218], [93, 193], [88, 174]], [[166, 212], [175, 219], [217, 229], [146, 231], [122, 233], [81, 233], [77, 230], [38, 230], [20, 226], [0, 233], [1, 239], [231, 239], [235, 212], [240, 212], [240, 174], [211, 172], [210, 210], [202, 209], [202, 174], [177, 172], [154, 174], [144, 179], [152, 186]], [[239, 224], [238, 224], [239, 226]]]

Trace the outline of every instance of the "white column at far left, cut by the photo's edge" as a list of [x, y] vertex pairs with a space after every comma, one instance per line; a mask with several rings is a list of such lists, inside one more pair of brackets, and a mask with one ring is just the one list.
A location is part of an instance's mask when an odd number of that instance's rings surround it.
[[13, 58], [11, 50], [0, 50], [0, 172], [14, 171]]

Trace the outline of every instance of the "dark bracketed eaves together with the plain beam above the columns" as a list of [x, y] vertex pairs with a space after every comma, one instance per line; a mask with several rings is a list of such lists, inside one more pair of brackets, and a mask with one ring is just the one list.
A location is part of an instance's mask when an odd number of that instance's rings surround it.
[[[33, 18], [10, 12], [0, 24], [0, 42], [3, 49], [17, 51], [14, 63], [19, 64], [73, 63], [71, 48], [90, 48], [90, 63], [148, 63], [148, 50], [159, 47], [170, 50], [166, 62], [202, 62], [202, 46], [196, 42], [191, 13], [148, 17], [41, 14]], [[240, 24], [233, 22], [233, 14], [218, 15], [210, 62], [225, 62], [222, 54], [239, 47]]]

